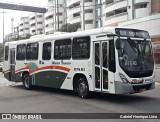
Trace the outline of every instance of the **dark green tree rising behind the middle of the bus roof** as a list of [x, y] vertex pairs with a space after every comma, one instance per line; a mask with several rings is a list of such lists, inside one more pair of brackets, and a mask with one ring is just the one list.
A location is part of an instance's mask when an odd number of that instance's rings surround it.
[[60, 31], [61, 32], [76, 32], [79, 28], [81, 28], [81, 24], [80, 23], [74, 23], [74, 24], [65, 24], [62, 25]]

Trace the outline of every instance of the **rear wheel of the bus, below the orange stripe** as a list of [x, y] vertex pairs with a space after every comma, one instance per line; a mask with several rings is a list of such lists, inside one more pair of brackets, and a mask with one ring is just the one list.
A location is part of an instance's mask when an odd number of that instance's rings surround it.
[[29, 74], [25, 74], [25, 75], [23, 76], [23, 86], [24, 86], [25, 89], [27, 89], [27, 90], [32, 89], [32, 83], [31, 83], [31, 81], [30, 81], [29, 79], [30, 79]]

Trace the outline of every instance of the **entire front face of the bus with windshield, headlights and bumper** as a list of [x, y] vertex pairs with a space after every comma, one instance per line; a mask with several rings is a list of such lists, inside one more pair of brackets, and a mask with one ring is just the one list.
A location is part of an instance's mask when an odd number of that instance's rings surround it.
[[115, 93], [138, 93], [155, 88], [154, 57], [149, 33], [135, 29], [115, 29]]

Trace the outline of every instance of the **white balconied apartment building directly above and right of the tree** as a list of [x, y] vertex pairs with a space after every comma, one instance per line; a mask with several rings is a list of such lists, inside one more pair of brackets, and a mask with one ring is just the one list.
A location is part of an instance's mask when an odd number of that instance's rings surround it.
[[82, 30], [95, 28], [95, 4], [95, 0], [67, 0], [67, 23], [81, 23]]

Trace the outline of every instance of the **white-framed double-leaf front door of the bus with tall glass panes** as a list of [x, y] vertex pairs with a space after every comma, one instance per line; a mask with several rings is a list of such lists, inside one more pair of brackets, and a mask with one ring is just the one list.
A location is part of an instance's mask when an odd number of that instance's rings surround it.
[[108, 42], [94, 42], [94, 79], [96, 91], [108, 91]]

